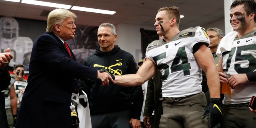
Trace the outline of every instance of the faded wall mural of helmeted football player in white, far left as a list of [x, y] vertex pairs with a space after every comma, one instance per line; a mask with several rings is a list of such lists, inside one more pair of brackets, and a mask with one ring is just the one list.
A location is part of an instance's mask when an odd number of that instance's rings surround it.
[[[13, 54], [13, 61], [10, 66], [16, 64], [28, 65], [26, 61], [28, 52], [32, 51], [33, 42], [29, 37], [19, 36], [19, 24], [13, 17], [3, 16], [0, 18], [0, 52], [4, 52], [6, 48], [10, 48], [10, 53]], [[29, 57], [30, 58], [30, 57]], [[25, 61], [24, 61], [25, 60]]]

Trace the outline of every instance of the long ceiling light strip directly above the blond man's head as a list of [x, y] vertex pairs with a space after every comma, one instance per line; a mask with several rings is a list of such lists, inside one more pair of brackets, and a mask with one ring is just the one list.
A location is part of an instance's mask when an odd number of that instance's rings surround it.
[[64, 9], [70, 9], [71, 5], [66, 4], [56, 4], [51, 2], [42, 2], [37, 0], [22, 0], [22, 3], [25, 4], [34, 4], [34, 5], [40, 5], [40, 6], [48, 6], [48, 7], [54, 7], [54, 8], [64, 8]]

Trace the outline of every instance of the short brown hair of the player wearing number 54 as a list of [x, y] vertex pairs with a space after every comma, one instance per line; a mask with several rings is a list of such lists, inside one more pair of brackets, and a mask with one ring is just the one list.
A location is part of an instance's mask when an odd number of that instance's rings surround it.
[[163, 7], [159, 8], [158, 12], [160, 11], [166, 11], [168, 13], [169, 18], [171, 19], [172, 17], [176, 18], [176, 24], [179, 26], [180, 24], [180, 11], [179, 8], [176, 6], [171, 6], [171, 7]]

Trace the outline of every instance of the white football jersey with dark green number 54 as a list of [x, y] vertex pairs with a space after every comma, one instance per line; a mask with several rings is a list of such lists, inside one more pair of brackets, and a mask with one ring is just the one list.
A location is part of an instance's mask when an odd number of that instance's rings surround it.
[[148, 45], [146, 58], [155, 62], [163, 76], [163, 97], [185, 97], [202, 92], [202, 70], [192, 52], [198, 42], [206, 46], [210, 43], [206, 30], [200, 26], [182, 30], [166, 44], [155, 41]]

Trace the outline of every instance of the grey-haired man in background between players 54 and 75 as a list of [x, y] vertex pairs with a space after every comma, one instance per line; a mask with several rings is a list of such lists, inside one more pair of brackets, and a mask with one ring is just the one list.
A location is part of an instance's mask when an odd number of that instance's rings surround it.
[[[210, 44], [208, 46], [208, 48], [210, 48], [210, 51], [212, 52], [212, 56], [214, 58], [214, 62], [216, 64], [216, 67], [218, 66], [218, 62], [220, 59], [220, 56], [216, 55], [216, 51], [218, 48], [218, 44], [220, 42], [220, 40], [223, 38], [223, 32], [222, 30], [218, 29], [218, 28], [208, 28], [207, 29], [207, 33], [210, 39]], [[207, 105], [210, 104], [210, 93], [209, 93], [209, 89], [207, 86], [207, 78], [206, 75], [204, 73], [204, 71], [202, 71], [202, 90], [205, 93], [206, 96], [206, 100], [207, 100]], [[223, 96], [221, 96], [223, 99]]]

